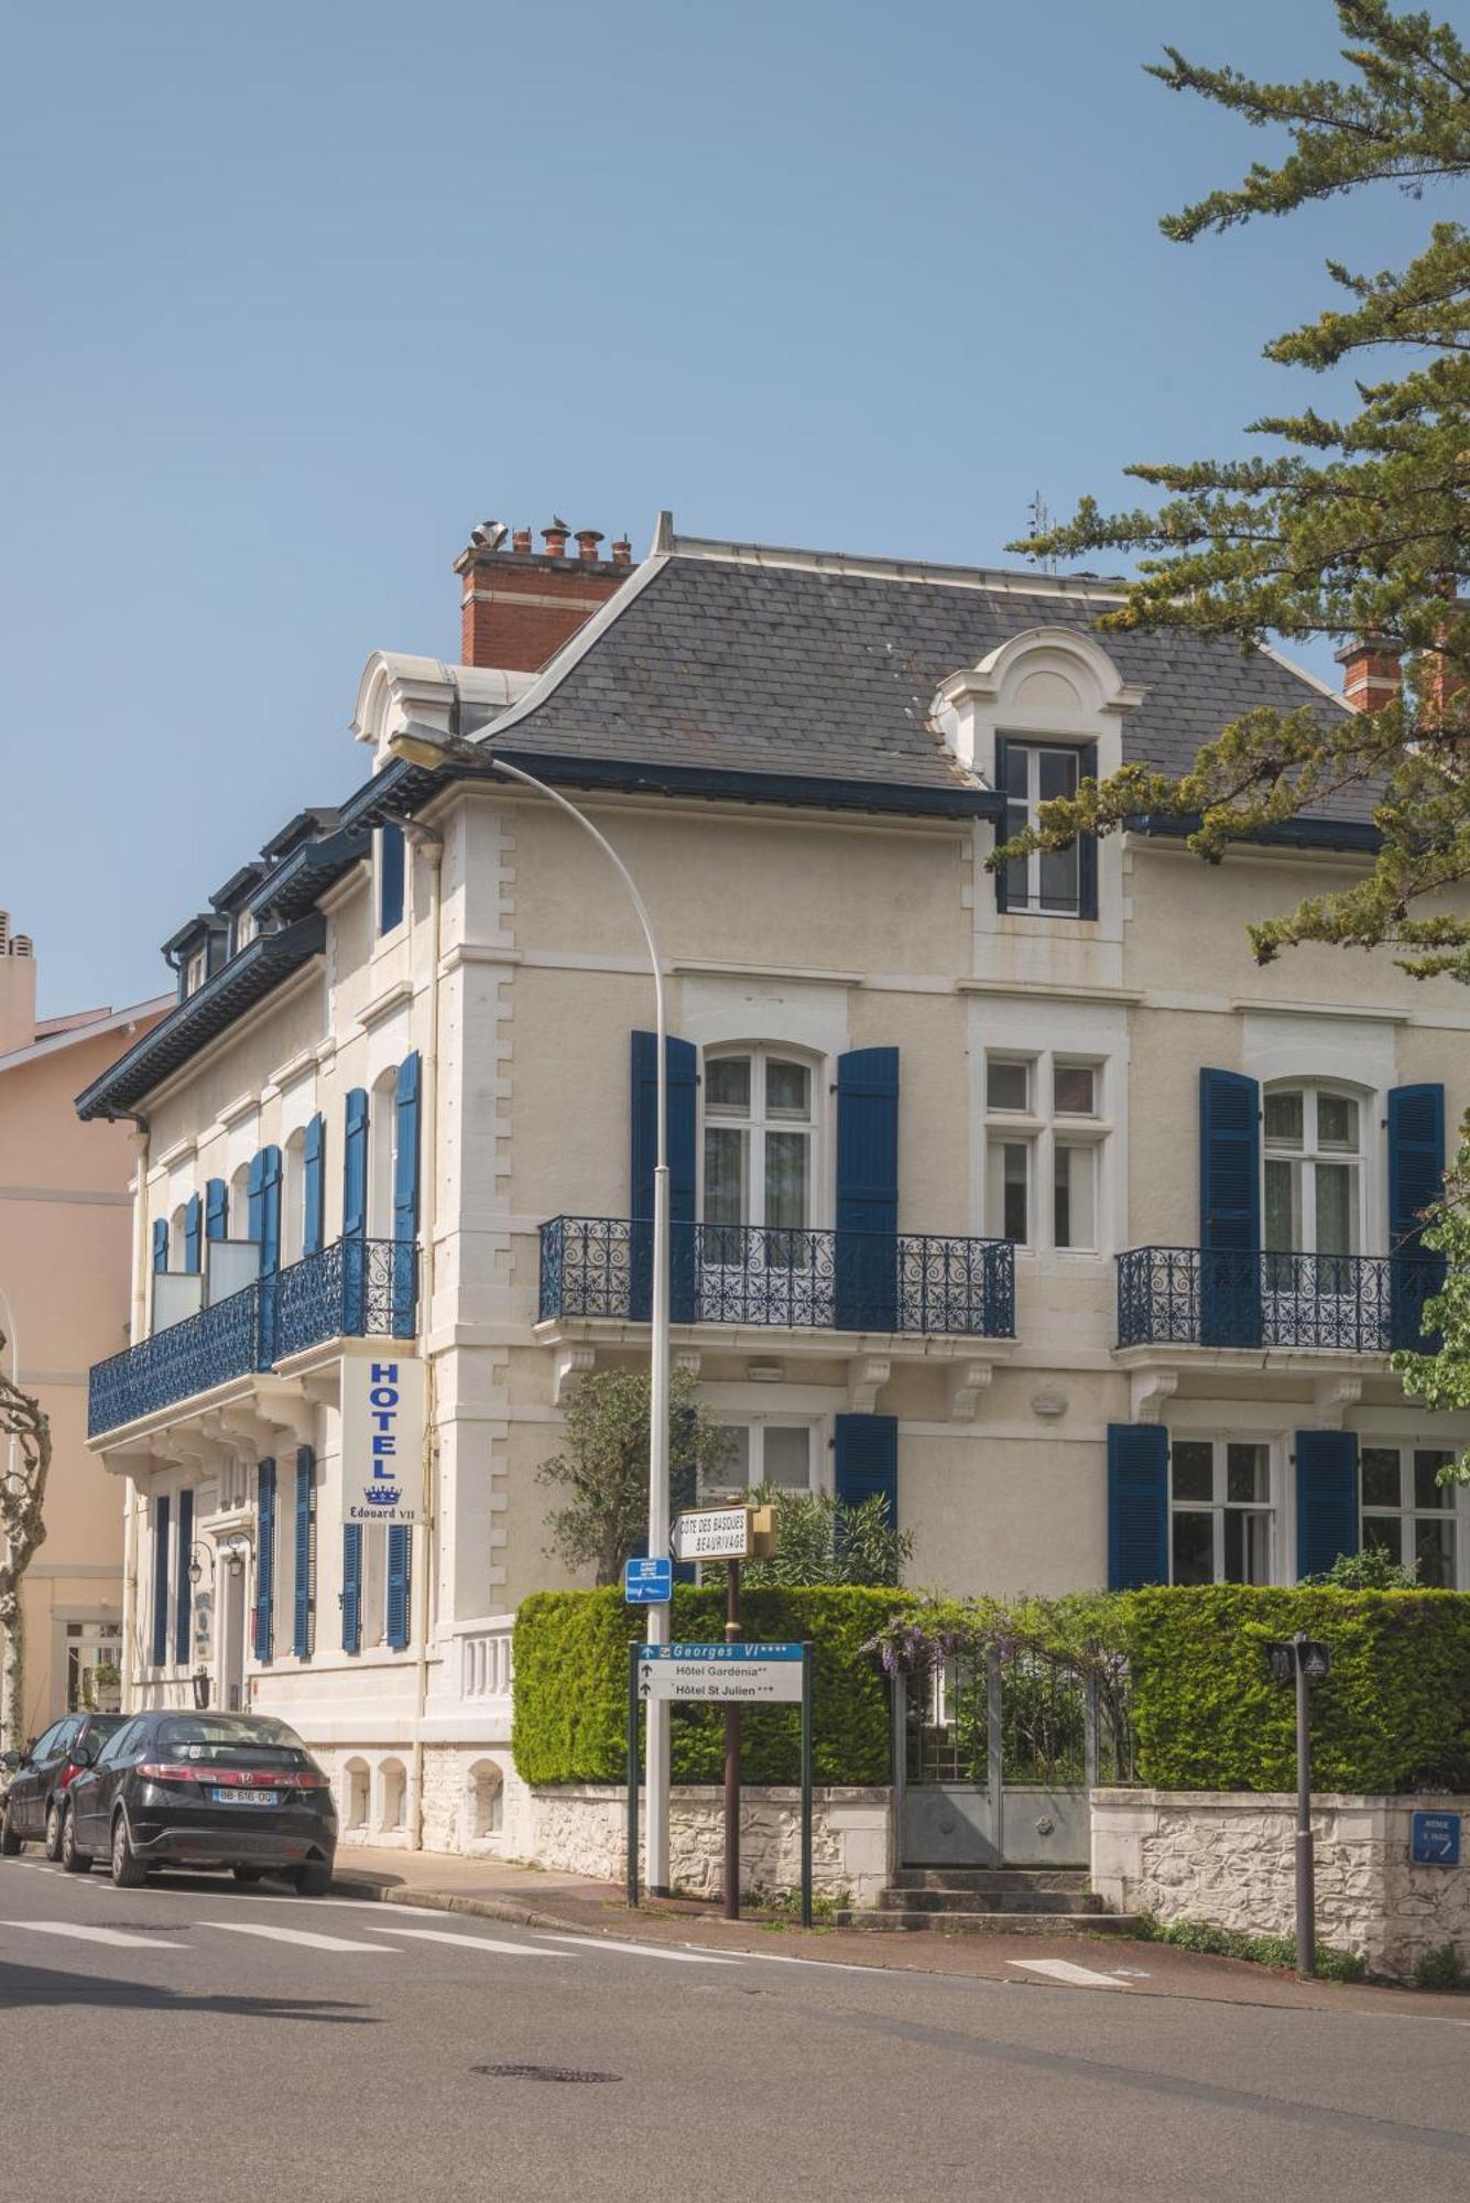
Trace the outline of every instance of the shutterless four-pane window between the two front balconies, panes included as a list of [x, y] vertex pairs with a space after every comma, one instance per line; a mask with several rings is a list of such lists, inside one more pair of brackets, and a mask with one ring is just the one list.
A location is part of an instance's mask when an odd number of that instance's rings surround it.
[[986, 1057], [986, 1231], [1021, 1247], [1098, 1247], [1102, 1064]]

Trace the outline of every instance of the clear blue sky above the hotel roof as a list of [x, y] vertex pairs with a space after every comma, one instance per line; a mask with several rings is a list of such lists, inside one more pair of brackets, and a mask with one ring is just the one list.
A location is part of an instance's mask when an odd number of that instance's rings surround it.
[[[1327, 0], [75, 0], [0, 143], [0, 903], [48, 1011], [361, 780], [493, 513], [997, 562], [1041, 489], [1239, 449], [1261, 341], [1424, 209], [1173, 247], [1270, 143], [1164, 40], [1329, 70]], [[1320, 392], [1312, 392], [1320, 397]]]

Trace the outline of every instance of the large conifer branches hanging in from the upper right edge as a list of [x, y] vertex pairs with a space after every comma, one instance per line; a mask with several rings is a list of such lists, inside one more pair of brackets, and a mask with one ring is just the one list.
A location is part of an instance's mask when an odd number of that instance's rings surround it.
[[[1470, 53], [1455, 31], [1386, 0], [1338, 0], [1338, 22], [1347, 82], [1268, 84], [1166, 48], [1151, 73], [1169, 90], [1285, 128], [1292, 150], [1169, 216], [1164, 236], [1188, 245], [1373, 183], [1415, 198], [1463, 183]], [[1191, 846], [1217, 864], [1232, 842], [1356, 793], [1382, 835], [1375, 861], [1349, 888], [1252, 925], [1259, 963], [1303, 941], [1391, 945], [1415, 978], [1470, 980], [1470, 919], [1444, 901], [1470, 877], [1470, 236], [1435, 220], [1402, 269], [1329, 260], [1327, 271], [1338, 302], [1265, 357], [1380, 377], [1356, 381], [1351, 410], [1250, 423], [1263, 456], [1131, 467], [1164, 491], [1158, 509], [1105, 516], [1085, 498], [1072, 522], [1012, 549], [1136, 553], [1138, 577], [1102, 628], [1188, 628], [1241, 645], [1371, 637], [1402, 661], [1402, 694], [1371, 712], [1248, 712], [1180, 780], [1125, 764], [1043, 806], [1036, 833], [992, 861], [1153, 813], [1188, 820]]]

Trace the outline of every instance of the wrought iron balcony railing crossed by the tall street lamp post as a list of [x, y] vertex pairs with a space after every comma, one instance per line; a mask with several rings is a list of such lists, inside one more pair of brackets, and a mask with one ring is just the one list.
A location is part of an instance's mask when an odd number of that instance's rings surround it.
[[[654, 1227], [629, 1216], [541, 1225], [541, 1322], [651, 1313]], [[671, 1227], [676, 1324], [1014, 1337], [1010, 1240], [926, 1231]]]

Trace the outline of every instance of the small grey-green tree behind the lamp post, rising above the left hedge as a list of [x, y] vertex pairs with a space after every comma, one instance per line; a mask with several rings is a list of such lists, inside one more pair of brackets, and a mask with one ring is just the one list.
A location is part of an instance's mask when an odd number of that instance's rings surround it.
[[[669, 1383], [671, 1507], [691, 1507], [700, 1485], [717, 1485], [731, 1465], [731, 1434], [695, 1401], [695, 1379], [673, 1370]], [[596, 1566], [599, 1584], [616, 1584], [623, 1562], [640, 1553], [649, 1527], [649, 1379], [634, 1370], [592, 1370], [572, 1392], [566, 1445], [537, 1469], [537, 1480], [566, 1489], [563, 1507], [546, 1516], [552, 1560], [568, 1569]]]

